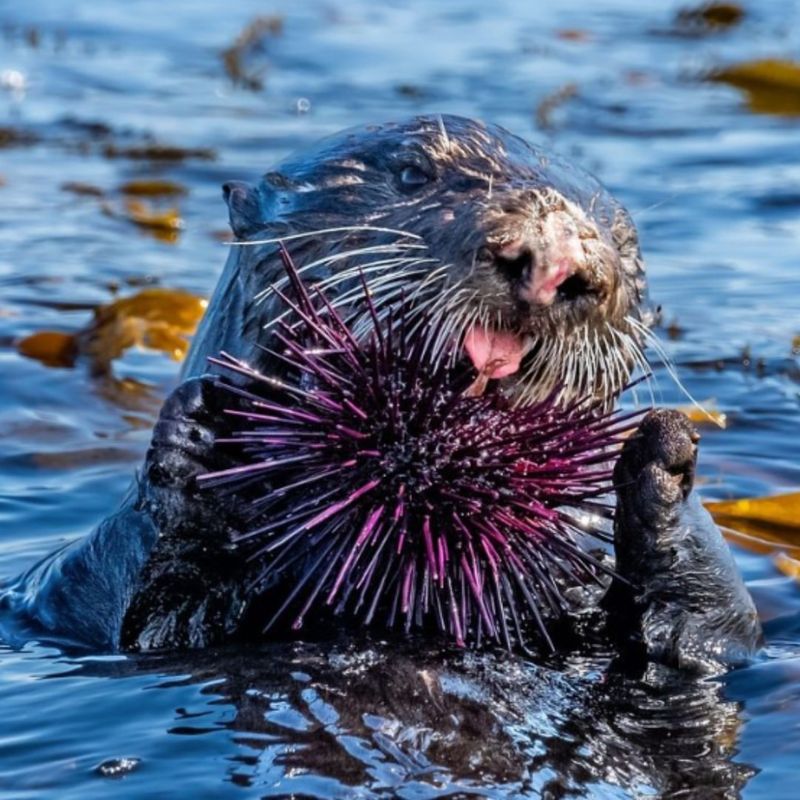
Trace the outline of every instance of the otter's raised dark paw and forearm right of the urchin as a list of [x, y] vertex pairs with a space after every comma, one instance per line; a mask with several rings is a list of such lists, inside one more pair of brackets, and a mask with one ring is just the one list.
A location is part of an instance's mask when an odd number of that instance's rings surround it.
[[678, 411], [651, 411], [614, 470], [615, 580], [609, 626], [655, 661], [715, 671], [749, 657], [761, 629], [733, 557], [692, 491], [699, 436]]

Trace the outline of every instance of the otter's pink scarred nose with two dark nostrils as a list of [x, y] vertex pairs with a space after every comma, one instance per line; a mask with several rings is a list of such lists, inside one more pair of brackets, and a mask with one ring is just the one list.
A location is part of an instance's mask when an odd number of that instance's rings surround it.
[[496, 269], [525, 302], [546, 306], [596, 294], [577, 242], [566, 239], [537, 247], [529, 239], [515, 239], [492, 252]]

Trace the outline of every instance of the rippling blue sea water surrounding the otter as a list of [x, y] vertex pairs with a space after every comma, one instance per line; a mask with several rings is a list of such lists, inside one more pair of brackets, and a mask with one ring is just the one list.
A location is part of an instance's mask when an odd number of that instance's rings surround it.
[[[178, 372], [157, 349], [43, 359], [25, 337], [153, 287], [191, 306], [226, 256], [223, 181], [421, 112], [491, 120], [597, 173], [640, 228], [681, 381], [727, 416], [703, 428], [704, 497], [797, 491], [799, 52], [796, 0], [0, 2], [0, 577], [112, 509]], [[659, 402], [686, 402], [656, 376]], [[409, 736], [386, 698], [349, 719], [358, 676], [394, 663], [377, 645], [368, 664], [344, 645], [172, 662], [0, 645], [0, 797], [795, 797], [800, 592], [775, 554], [796, 543], [777, 538], [736, 550], [767, 657], [672, 705], [628, 685], [628, 713], [585, 664], [559, 667], [591, 687], [571, 697], [557, 672], [482, 661], [571, 709], [484, 698], [502, 768], [463, 706], [449, 739], [430, 721]], [[676, 708], [695, 750], [664, 750]]]

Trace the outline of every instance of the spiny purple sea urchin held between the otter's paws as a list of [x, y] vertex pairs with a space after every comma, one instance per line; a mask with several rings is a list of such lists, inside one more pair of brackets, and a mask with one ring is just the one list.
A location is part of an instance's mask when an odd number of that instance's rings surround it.
[[498, 391], [470, 396], [436, 331], [408, 335], [402, 304], [357, 341], [283, 257], [292, 321], [273, 355], [285, 370], [214, 359], [246, 379], [222, 384], [242, 427], [218, 440], [242, 463], [202, 476], [253, 498], [258, 521], [239, 542], [259, 567], [254, 591], [289, 579], [266, 628], [288, 613], [300, 628], [324, 603], [365, 624], [435, 622], [459, 644], [524, 644], [531, 624], [549, 642], [561, 579], [602, 569], [576, 545], [575, 515], [610, 514], [600, 498], [630, 418], [555, 396], [516, 408]]

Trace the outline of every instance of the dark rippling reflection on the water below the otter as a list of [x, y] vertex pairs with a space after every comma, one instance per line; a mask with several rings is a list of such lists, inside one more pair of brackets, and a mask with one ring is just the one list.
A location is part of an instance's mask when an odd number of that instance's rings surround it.
[[626, 675], [602, 654], [537, 666], [420, 642], [295, 643], [51, 678], [140, 674], [166, 692], [203, 685], [168, 733], [227, 730], [240, 747], [217, 780], [267, 796], [735, 798], [755, 774], [736, 760], [741, 707], [724, 682]]

